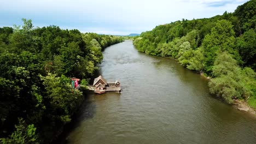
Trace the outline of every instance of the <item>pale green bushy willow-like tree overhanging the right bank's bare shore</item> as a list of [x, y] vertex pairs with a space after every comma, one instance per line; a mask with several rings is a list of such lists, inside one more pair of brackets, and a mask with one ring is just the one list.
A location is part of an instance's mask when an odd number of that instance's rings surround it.
[[220, 53], [213, 66], [215, 76], [209, 82], [210, 92], [231, 104], [232, 99], [247, 99], [255, 95], [255, 73], [249, 68], [241, 69], [228, 52]]

